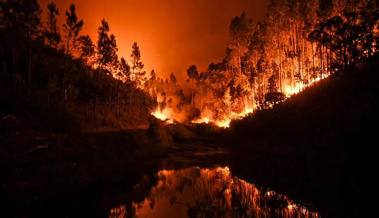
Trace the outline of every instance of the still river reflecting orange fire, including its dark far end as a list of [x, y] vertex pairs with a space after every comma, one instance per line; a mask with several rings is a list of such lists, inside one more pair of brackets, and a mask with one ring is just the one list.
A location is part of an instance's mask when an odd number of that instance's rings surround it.
[[[310, 204], [234, 175], [221, 148], [174, 152], [161, 169], [113, 196], [108, 217], [318, 217]], [[109, 198], [109, 197], [108, 197]], [[116, 203], [116, 204], [117, 204]], [[310, 208], [311, 210], [309, 210]]]

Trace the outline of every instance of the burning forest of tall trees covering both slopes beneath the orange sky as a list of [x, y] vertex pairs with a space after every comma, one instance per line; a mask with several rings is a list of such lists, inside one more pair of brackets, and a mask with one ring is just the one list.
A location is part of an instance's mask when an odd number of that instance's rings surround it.
[[[60, 119], [55, 124], [101, 116], [136, 127], [153, 114], [169, 123], [228, 127], [232, 119], [327, 83], [330, 74], [374, 54], [379, 36], [377, 1], [271, 0], [263, 22], [245, 12], [232, 19], [222, 62], [201, 73], [189, 66], [182, 85], [192, 91], [185, 96], [174, 73], [163, 79], [143, 70], [137, 42], [130, 57], [119, 58], [105, 19], [94, 43], [81, 31], [85, 21], [74, 3], [64, 14], [37, 0], [5, 0], [1, 8], [2, 110]], [[66, 18], [62, 27], [57, 16]]]

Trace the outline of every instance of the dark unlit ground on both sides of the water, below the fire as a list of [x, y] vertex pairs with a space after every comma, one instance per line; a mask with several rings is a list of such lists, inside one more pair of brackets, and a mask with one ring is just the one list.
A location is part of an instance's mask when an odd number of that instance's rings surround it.
[[[104, 217], [104, 209], [122, 203], [115, 193], [155, 175], [163, 158], [191, 156], [204, 164], [206, 151], [222, 156], [218, 163], [240, 178], [312, 203], [323, 215], [362, 217], [371, 211], [366, 197], [376, 165], [376, 69], [371, 63], [330, 77], [221, 132], [155, 123], [149, 130], [65, 135], [7, 118], [0, 147], [1, 211], [6, 217]], [[175, 142], [181, 143], [172, 147]], [[218, 153], [219, 147], [229, 153]], [[146, 190], [134, 191], [133, 199], [144, 199]]]

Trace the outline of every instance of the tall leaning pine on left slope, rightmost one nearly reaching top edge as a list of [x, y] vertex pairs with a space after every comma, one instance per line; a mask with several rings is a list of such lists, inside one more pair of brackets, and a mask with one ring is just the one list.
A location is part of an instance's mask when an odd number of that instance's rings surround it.
[[78, 20], [78, 17], [75, 12], [75, 5], [72, 3], [70, 5], [70, 11], [66, 10], [66, 23], [63, 24], [63, 31], [65, 33], [64, 38], [66, 39], [67, 47], [66, 47], [66, 57], [64, 59], [64, 69], [63, 69], [63, 82], [62, 82], [62, 91], [61, 91], [61, 99], [63, 96], [64, 90], [64, 82], [66, 79], [66, 68], [67, 68], [67, 58], [70, 53], [77, 51], [80, 42], [78, 42], [79, 32], [83, 28], [83, 19]]

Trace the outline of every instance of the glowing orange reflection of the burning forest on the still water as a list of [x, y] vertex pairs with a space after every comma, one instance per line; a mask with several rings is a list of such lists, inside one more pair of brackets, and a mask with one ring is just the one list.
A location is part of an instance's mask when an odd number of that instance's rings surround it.
[[110, 217], [318, 217], [274, 190], [233, 176], [228, 167], [161, 170], [157, 186], [142, 202], [125, 205]]

